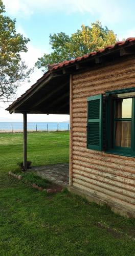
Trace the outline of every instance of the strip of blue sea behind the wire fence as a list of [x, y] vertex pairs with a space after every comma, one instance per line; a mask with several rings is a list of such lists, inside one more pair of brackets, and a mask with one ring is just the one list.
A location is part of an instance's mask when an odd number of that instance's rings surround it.
[[[28, 122], [28, 131], [68, 131], [69, 122]], [[23, 131], [22, 122], [0, 122], [0, 132], [17, 132]]]

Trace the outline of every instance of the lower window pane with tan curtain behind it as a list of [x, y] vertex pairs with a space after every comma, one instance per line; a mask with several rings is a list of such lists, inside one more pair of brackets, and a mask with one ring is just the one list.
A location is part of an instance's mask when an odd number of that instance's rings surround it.
[[115, 121], [115, 145], [131, 147], [131, 121]]

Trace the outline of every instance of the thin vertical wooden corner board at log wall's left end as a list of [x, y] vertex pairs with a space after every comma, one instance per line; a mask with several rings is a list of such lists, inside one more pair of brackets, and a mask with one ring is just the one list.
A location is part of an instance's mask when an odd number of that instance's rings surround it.
[[70, 75], [70, 174], [69, 174], [69, 185], [73, 184], [73, 85], [72, 85], [72, 75]]

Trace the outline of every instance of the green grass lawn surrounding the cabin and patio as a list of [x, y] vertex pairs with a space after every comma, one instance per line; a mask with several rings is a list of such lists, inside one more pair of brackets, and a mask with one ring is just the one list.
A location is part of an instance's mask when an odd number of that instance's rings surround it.
[[[0, 134], [0, 255], [135, 255], [135, 220], [8, 176], [22, 152], [21, 133]], [[69, 133], [28, 133], [28, 160], [68, 162]]]

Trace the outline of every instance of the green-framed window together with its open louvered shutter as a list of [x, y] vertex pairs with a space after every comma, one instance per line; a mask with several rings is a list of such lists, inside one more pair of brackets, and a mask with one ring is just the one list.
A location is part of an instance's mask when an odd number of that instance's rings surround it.
[[88, 97], [87, 148], [135, 157], [134, 110], [135, 88]]

